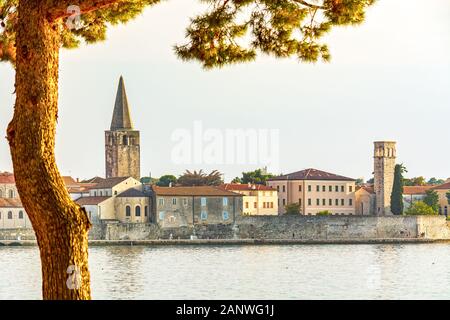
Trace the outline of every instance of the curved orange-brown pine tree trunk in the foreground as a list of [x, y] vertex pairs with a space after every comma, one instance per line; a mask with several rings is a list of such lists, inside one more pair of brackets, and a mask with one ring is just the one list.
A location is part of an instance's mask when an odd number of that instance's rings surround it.
[[90, 299], [86, 212], [70, 198], [55, 162], [62, 22], [45, 1], [19, 1], [16, 104], [8, 140], [17, 189], [39, 245], [44, 299]]

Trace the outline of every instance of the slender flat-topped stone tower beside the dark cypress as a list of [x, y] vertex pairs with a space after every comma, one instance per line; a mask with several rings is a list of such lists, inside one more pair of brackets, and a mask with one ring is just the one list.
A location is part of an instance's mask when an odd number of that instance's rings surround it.
[[377, 141], [374, 151], [374, 188], [376, 214], [391, 214], [391, 193], [394, 185], [396, 143]]

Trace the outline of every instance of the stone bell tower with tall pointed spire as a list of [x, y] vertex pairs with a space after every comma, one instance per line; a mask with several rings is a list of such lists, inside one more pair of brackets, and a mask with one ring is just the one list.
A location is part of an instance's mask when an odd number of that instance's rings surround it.
[[140, 179], [139, 131], [133, 129], [122, 76], [117, 88], [110, 130], [105, 131], [106, 178]]

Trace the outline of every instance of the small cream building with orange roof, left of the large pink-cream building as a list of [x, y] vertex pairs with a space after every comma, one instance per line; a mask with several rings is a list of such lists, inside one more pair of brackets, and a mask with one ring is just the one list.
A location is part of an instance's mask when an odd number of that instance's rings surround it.
[[243, 215], [278, 215], [278, 192], [274, 188], [251, 183], [227, 183], [220, 188], [242, 194]]

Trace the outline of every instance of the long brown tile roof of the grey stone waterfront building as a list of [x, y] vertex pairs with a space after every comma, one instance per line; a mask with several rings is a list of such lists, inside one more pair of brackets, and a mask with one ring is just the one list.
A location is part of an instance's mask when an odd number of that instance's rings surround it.
[[242, 195], [219, 187], [158, 187], [152, 186], [157, 196], [209, 196], [209, 197], [241, 197]]

